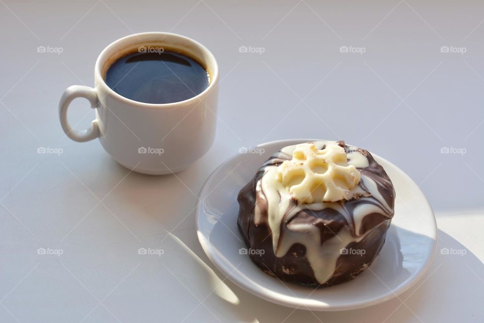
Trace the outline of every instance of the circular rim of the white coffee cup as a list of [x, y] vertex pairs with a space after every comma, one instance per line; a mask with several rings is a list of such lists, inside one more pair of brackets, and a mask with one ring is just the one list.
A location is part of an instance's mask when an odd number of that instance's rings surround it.
[[[104, 56], [107, 55], [106, 54], [107, 51], [109, 51], [112, 47], [116, 46], [117, 44], [122, 43], [122, 42], [124, 42], [128, 39], [134, 39], [133, 44], [135, 44], [136, 42], [139, 42], [139, 39], [143, 36], [145, 36], [145, 37], [146, 36], [159, 36], [161, 38], [161, 40], [166, 36], [174, 36], [174, 37], [177, 37], [177, 38], [183, 40], [184, 42], [191, 42], [191, 43], [195, 44], [197, 47], [199, 47], [209, 58], [208, 61], [211, 61], [212, 64], [213, 64], [213, 71], [211, 71], [212, 73], [210, 73], [210, 77], [211, 77], [210, 84], [207, 86], [207, 88], [205, 90], [203, 90], [201, 93], [199, 93], [199, 94], [197, 94], [197, 95], [195, 95], [195, 96], [193, 96], [189, 99], [186, 99], [186, 100], [183, 100], [183, 101], [171, 102], [171, 103], [140, 102], [140, 101], [136, 101], [136, 100], [132, 100], [130, 98], [124, 97], [123, 95], [113, 91], [106, 84], [106, 81], [104, 80], [104, 78], [102, 76], [103, 66], [104, 66], [105, 62], [107, 61], [107, 59], [109, 58], [109, 57], [104, 58]], [[136, 41], [136, 39], [138, 39], [138, 41]], [[141, 41], [141, 43], [142, 43], [142, 41]], [[101, 53], [97, 57], [96, 65], [94, 67], [95, 78], [99, 80], [98, 84], [95, 84], [95, 87], [101, 86], [103, 88], [103, 90], [106, 91], [106, 93], [114, 96], [116, 99], [118, 99], [118, 100], [120, 100], [124, 103], [130, 104], [130, 105], [137, 105], [137, 106], [140, 106], [140, 107], [152, 108], [152, 109], [160, 109], [160, 108], [169, 109], [169, 108], [177, 107], [177, 106], [185, 106], [185, 105], [188, 105], [188, 104], [191, 104], [191, 103], [194, 103], [194, 102], [201, 100], [202, 97], [206, 96], [210, 91], [212, 91], [217, 86], [218, 77], [219, 77], [218, 74], [219, 74], [219, 71], [218, 71], [217, 60], [215, 59], [212, 52], [207, 47], [205, 47], [200, 42], [198, 42], [198, 41], [196, 41], [196, 40], [194, 40], [190, 37], [175, 34], [175, 33], [160, 32], [160, 31], [149, 31], [149, 32], [141, 32], [141, 33], [136, 33], [136, 34], [130, 34], [130, 35], [127, 35], [125, 37], [114, 40], [113, 42], [111, 42], [109, 45], [107, 45], [101, 51]]]

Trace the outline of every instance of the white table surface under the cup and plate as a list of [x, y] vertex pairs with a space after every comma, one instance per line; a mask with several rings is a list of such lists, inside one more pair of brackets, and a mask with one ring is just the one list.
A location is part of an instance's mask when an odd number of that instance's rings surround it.
[[[477, 1], [0, 1], [0, 321], [483, 322], [483, 9]], [[215, 143], [176, 176], [130, 173], [97, 141], [70, 141], [58, 123], [62, 91], [92, 85], [104, 46], [142, 31], [193, 37], [221, 68]], [[88, 110], [74, 102], [77, 128], [90, 124]], [[240, 147], [303, 137], [365, 147], [420, 185], [440, 230], [415, 288], [378, 306], [315, 313], [255, 298], [214, 270], [195, 230], [205, 179]], [[42, 147], [62, 153], [37, 153]]]

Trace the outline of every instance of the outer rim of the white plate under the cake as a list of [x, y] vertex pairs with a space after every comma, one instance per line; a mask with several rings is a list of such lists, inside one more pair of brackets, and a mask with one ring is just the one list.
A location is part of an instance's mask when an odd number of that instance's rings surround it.
[[[273, 141], [268, 141], [265, 143], [258, 144], [256, 147], [264, 147], [268, 145], [272, 145], [275, 143], [280, 143], [285, 145], [290, 145], [294, 144], [295, 141], [300, 141], [300, 142], [308, 142], [308, 141], [318, 141], [318, 140], [323, 140], [323, 139], [308, 139], [308, 138], [302, 138], [302, 139], [281, 139], [281, 140], [273, 140]], [[287, 143], [287, 144], [286, 144]], [[427, 200], [427, 197], [423, 192], [421, 191], [420, 187], [405, 173], [403, 172], [399, 167], [397, 167], [395, 164], [391, 163], [387, 159], [379, 156], [378, 154], [375, 154], [372, 152], [372, 155], [376, 156], [379, 159], [383, 159], [386, 161], [386, 163], [392, 165], [398, 173], [400, 173], [401, 176], [404, 176], [407, 180], [413, 182], [416, 186], [416, 193], [421, 194], [425, 198], [426, 206], [429, 208], [430, 212], [432, 213], [432, 220], [433, 220], [433, 226], [432, 226], [432, 236], [430, 238], [433, 239], [434, 244], [433, 248], [430, 254], [430, 257], [428, 258], [427, 262], [422, 265], [421, 267], [418, 268], [417, 271], [415, 271], [410, 277], [408, 277], [402, 284], [398, 285], [394, 289], [390, 289], [389, 291], [385, 294], [382, 294], [380, 297], [374, 297], [369, 300], [364, 300], [360, 302], [356, 302], [352, 305], [328, 305], [328, 304], [305, 304], [301, 302], [297, 302], [297, 300], [307, 300], [307, 299], [301, 299], [296, 296], [283, 296], [284, 299], [281, 299], [281, 297], [278, 297], [280, 294], [277, 292], [273, 292], [270, 289], [265, 288], [264, 290], [260, 290], [258, 286], [255, 286], [257, 288], [250, 288], [250, 286], [246, 285], [247, 282], [250, 284], [255, 284], [252, 280], [247, 280], [247, 279], [241, 279], [239, 276], [233, 275], [233, 271], [230, 272], [227, 270], [224, 264], [219, 263], [218, 260], [215, 260], [214, 254], [211, 252], [211, 244], [209, 240], [205, 238], [205, 235], [201, 232], [200, 230], [200, 212], [203, 212], [202, 210], [202, 200], [200, 199], [200, 196], [202, 193], [205, 192], [207, 189], [207, 185], [214, 176], [214, 174], [225, 164], [227, 164], [230, 160], [238, 157], [242, 153], [238, 152], [235, 153], [234, 155], [230, 156], [229, 158], [225, 159], [219, 166], [217, 166], [207, 177], [205, 180], [204, 184], [202, 185], [202, 188], [200, 189], [200, 192], [197, 196], [197, 205], [195, 208], [195, 220], [197, 224], [197, 237], [198, 240], [202, 246], [203, 251], [207, 255], [207, 257], [210, 259], [210, 261], [214, 264], [214, 266], [226, 277], [228, 278], [231, 282], [233, 282], [235, 285], [240, 287], [241, 289], [259, 297], [262, 299], [265, 299], [271, 303], [279, 304], [282, 306], [290, 307], [290, 308], [298, 308], [298, 309], [308, 309], [308, 310], [315, 310], [315, 311], [341, 311], [341, 310], [352, 310], [352, 309], [358, 309], [358, 308], [364, 308], [364, 307], [369, 307], [373, 305], [377, 305], [383, 302], [386, 302], [390, 299], [393, 299], [395, 297], [398, 297], [408, 289], [410, 289], [412, 286], [417, 283], [422, 276], [429, 270], [429, 267], [432, 265], [436, 250], [437, 250], [437, 239], [438, 239], [438, 228], [437, 228], [437, 221], [435, 218], [435, 213], [434, 210], [432, 209], [432, 206], [430, 205], [429, 201]], [[287, 287], [287, 286], [286, 286]], [[289, 287], [287, 287], [289, 288]], [[269, 294], [274, 294], [269, 295]]]

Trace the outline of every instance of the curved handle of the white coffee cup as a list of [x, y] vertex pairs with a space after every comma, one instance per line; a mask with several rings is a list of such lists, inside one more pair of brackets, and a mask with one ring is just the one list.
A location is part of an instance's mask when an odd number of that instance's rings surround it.
[[91, 103], [91, 108], [95, 109], [99, 100], [95, 89], [89, 86], [73, 85], [68, 87], [61, 97], [59, 102], [59, 118], [61, 119], [61, 126], [66, 135], [74, 141], [85, 142], [99, 137], [99, 125], [97, 120], [93, 120], [89, 129], [78, 131], [72, 129], [67, 120], [67, 110], [69, 104], [78, 97], [83, 97]]

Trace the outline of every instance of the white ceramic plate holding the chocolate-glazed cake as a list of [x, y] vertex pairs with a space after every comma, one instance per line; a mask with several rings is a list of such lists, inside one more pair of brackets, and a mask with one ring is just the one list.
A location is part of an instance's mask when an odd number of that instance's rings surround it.
[[[247, 254], [238, 231], [237, 194], [271, 154], [312, 139], [261, 144], [220, 165], [207, 179], [197, 204], [198, 238], [217, 268], [239, 287], [268, 301], [301, 309], [332, 311], [375, 305], [412, 286], [428, 269], [437, 244], [434, 213], [418, 186], [389, 161], [373, 154], [395, 186], [395, 216], [380, 255], [355, 279], [314, 289], [282, 283], [262, 272]], [[257, 153], [262, 152], [263, 153]]]

